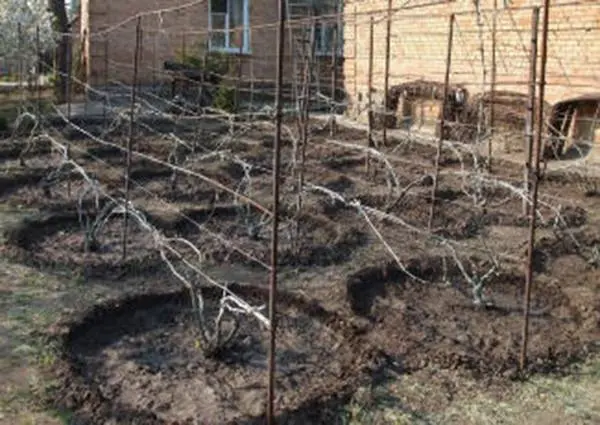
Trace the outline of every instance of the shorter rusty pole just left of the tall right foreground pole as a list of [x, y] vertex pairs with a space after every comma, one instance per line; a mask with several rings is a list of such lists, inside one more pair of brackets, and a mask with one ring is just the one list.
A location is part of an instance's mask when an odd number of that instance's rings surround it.
[[529, 194], [531, 193], [531, 161], [533, 160], [533, 135], [535, 123], [535, 84], [537, 79], [537, 46], [540, 23], [540, 8], [534, 7], [531, 15], [531, 50], [529, 51], [529, 93], [527, 98], [527, 119], [525, 128], [525, 167], [523, 183], [527, 197], [523, 199], [523, 215], [529, 214]]

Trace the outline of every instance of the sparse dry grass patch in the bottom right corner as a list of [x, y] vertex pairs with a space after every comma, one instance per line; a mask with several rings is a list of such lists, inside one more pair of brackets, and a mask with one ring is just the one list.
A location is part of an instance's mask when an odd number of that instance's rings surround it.
[[592, 425], [600, 423], [600, 356], [566, 377], [490, 385], [451, 371], [396, 377], [353, 400], [344, 425]]

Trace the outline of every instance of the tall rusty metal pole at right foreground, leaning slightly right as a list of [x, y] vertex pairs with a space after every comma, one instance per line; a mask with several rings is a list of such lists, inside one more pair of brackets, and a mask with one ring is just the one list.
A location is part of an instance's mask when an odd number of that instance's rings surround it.
[[525, 371], [527, 365], [527, 344], [529, 341], [529, 307], [531, 304], [531, 287], [533, 285], [533, 248], [535, 245], [535, 226], [537, 219], [537, 201], [540, 180], [540, 161], [542, 154], [542, 139], [544, 132], [544, 90], [546, 87], [546, 62], [548, 58], [548, 22], [550, 16], [550, 0], [544, 1], [544, 16], [542, 20], [542, 48], [540, 51], [540, 81], [537, 98], [537, 121], [535, 133], [535, 156], [533, 187], [531, 195], [531, 214], [529, 223], [529, 242], [527, 249], [527, 272], [525, 275], [525, 296], [523, 300], [523, 340], [521, 345], [520, 370]]

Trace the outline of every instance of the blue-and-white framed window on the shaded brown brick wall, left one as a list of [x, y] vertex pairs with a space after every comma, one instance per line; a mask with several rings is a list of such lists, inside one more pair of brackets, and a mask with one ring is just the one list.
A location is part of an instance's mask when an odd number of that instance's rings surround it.
[[212, 51], [250, 51], [250, 0], [209, 0], [209, 48]]

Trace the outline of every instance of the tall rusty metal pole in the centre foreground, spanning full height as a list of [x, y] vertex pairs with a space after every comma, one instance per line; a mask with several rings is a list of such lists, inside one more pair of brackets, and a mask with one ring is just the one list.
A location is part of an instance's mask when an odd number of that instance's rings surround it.
[[279, 174], [281, 168], [281, 122], [283, 47], [285, 42], [285, 0], [278, 1], [277, 76], [275, 88], [275, 140], [273, 143], [273, 229], [271, 234], [271, 278], [269, 282], [269, 359], [267, 383], [267, 425], [275, 425], [275, 336], [277, 332], [277, 267], [279, 245]]

